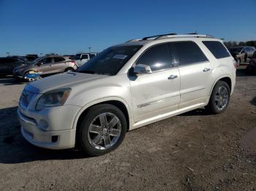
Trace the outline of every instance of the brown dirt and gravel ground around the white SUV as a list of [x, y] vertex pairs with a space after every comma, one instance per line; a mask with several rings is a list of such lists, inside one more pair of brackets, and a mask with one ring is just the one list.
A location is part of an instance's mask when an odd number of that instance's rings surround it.
[[0, 190], [256, 190], [256, 76], [237, 75], [226, 112], [133, 130], [101, 157], [27, 143], [16, 117], [24, 84], [0, 79]]

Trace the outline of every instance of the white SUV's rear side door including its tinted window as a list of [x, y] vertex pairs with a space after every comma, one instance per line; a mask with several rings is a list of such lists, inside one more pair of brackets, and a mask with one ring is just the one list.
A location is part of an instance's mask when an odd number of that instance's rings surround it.
[[179, 108], [203, 104], [211, 88], [211, 64], [195, 42], [173, 42], [181, 75]]

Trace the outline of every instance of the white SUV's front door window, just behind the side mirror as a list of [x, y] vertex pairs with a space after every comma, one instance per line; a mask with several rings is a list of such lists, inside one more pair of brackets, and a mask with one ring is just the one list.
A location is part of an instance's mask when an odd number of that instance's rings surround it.
[[145, 64], [151, 71], [169, 69], [171, 66], [170, 51], [167, 44], [159, 44], [149, 48], [138, 59], [136, 65]]

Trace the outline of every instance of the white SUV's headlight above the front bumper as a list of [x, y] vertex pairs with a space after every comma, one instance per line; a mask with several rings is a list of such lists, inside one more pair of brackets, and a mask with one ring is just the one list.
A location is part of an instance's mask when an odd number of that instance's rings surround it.
[[49, 106], [62, 106], [69, 97], [70, 91], [70, 88], [64, 88], [45, 93], [39, 98], [39, 101], [37, 101], [36, 109], [42, 110]]

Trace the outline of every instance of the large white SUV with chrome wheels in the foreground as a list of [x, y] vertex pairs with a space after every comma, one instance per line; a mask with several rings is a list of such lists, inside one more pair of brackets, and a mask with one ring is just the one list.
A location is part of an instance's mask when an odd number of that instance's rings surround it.
[[227, 109], [236, 62], [220, 39], [159, 35], [110, 47], [77, 71], [27, 85], [21, 133], [49, 149], [116, 149], [128, 130], [206, 106]]

